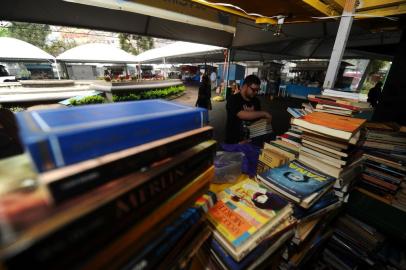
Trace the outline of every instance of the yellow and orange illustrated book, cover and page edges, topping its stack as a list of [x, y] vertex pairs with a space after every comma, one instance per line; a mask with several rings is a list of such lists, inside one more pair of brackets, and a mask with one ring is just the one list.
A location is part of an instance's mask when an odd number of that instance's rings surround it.
[[236, 261], [241, 261], [291, 212], [292, 206], [285, 199], [246, 179], [218, 194], [208, 220], [215, 239]]

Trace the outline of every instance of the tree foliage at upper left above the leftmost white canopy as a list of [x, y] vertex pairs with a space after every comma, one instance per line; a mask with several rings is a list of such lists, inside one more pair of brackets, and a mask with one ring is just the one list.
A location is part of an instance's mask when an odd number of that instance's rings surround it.
[[8, 29], [9, 36], [24, 40], [41, 49], [46, 49], [46, 39], [51, 33], [49, 25], [13, 22]]

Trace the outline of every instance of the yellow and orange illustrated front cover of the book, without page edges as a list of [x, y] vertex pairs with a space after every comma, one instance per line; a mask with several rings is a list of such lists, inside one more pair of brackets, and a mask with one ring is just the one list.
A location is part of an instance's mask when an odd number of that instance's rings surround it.
[[246, 179], [218, 195], [208, 218], [233, 248], [242, 246], [265, 225], [276, 222], [290, 204], [257, 182]]

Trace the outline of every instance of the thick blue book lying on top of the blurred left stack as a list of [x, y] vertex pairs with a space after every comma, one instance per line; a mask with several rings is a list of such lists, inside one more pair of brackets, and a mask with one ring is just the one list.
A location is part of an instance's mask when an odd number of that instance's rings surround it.
[[164, 100], [86, 105], [16, 114], [40, 172], [205, 126], [206, 109]]

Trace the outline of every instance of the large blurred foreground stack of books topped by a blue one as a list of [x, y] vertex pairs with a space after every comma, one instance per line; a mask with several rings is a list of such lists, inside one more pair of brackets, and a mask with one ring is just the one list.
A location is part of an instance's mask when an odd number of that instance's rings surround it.
[[17, 119], [38, 174], [0, 198], [7, 269], [184, 268], [209, 237], [206, 110], [150, 100]]

